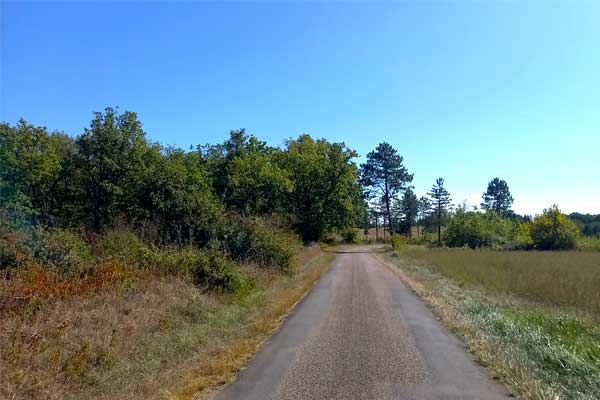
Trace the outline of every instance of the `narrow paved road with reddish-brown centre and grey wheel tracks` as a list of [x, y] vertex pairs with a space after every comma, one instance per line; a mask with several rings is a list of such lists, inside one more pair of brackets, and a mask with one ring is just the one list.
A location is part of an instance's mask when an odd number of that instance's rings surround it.
[[368, 247], [331, 269], [216, 400], [506, 399]]

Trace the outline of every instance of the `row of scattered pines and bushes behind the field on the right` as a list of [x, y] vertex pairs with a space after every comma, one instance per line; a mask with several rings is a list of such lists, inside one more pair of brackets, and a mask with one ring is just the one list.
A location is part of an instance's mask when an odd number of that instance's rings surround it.
[[[533, 219], [512, 209], [514, 198], [506, 181], [494, 178], [482, 194], [480, 207], [468, 210], [454, 206], [443, 178], [438, 178], [426, 196], [418, 197], [411, 185], [414, 175], [403, 157], [389, 143], [379, 144], [360, 166], [361, 184], [368, 204], [365, 231], [380, 219], [390, 234], [412, 239], [413, 227], [421, 241], [451, 247], [496, 247], [507, 249], [569, 249], [577, 245], [579, 229], [556, 206]], [[594, 229], [593, 218], [580, 216], [585, 229]], [[385, 231], [384, 231], [385, 232]], [[433, 233], [427, 239], [424, 233]]]

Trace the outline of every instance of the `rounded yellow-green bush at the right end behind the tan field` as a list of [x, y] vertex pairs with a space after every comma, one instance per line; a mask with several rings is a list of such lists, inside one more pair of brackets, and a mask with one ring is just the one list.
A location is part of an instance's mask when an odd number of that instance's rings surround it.
[[531, 238], [540, 250], [570, 250], [577, 246], [579, 228], [556, 205], [545, 209], [531, 226]]

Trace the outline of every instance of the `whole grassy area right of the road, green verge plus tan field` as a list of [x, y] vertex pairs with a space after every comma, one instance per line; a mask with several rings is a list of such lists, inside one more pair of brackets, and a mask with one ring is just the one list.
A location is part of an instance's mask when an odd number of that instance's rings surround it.
[[[523, 296], [528, 283], [518, 282], [535, 277], [534, 273], [517, 271], [518, 268], [534, 268], [542, 275], [541, 279], [548, 279], [544, 277], [548, 273], [572, 283], [577, 280], [568, 273], [573, 260], [558, 257], [549, 263], [552, 271], [545, 272], [543, 261], [560, 253], [521, 253], [542, 258], [532, 262], [532, 266], [527, 264], [530, 258], [518, 259], [517, 253], [502, 257], [502, 253], [409, 247], [389, 251], [382, 257], [432, 306], [440, 320], [464, 340], [474, 358], [519, 398], [600, 398], [600, 329], [594, 314], [596, 306], [587, 307], [583, 294], [567, 297], [566, 301], [564, 282], [552, 286], [558, 288], [554, 295], [551, 290], [541, 292], [544, 296], [539, 292]], [[499, 260], [493, 260], [496, 255]], [[590, 262], [586, 257], [583, 259]], [[518, 266], [510, 264], [514, 260]], [[563, 268], [560, 262], [564, 263]], [[594, 279], [597, 275], [591, 268], [584, 264], [570, 271], [571, 274], [584, 271], [588, 279]], [[470, 273], [475, 276], [470, 277]], [[510, 274], [516, 276], [507, 276]], [[515, 282], [515, 290], [508, 286], [511, 281]], [[533, 282], [529, 287], [539, 289]], [[594, 299], [593, 291], [583, 293]]]

